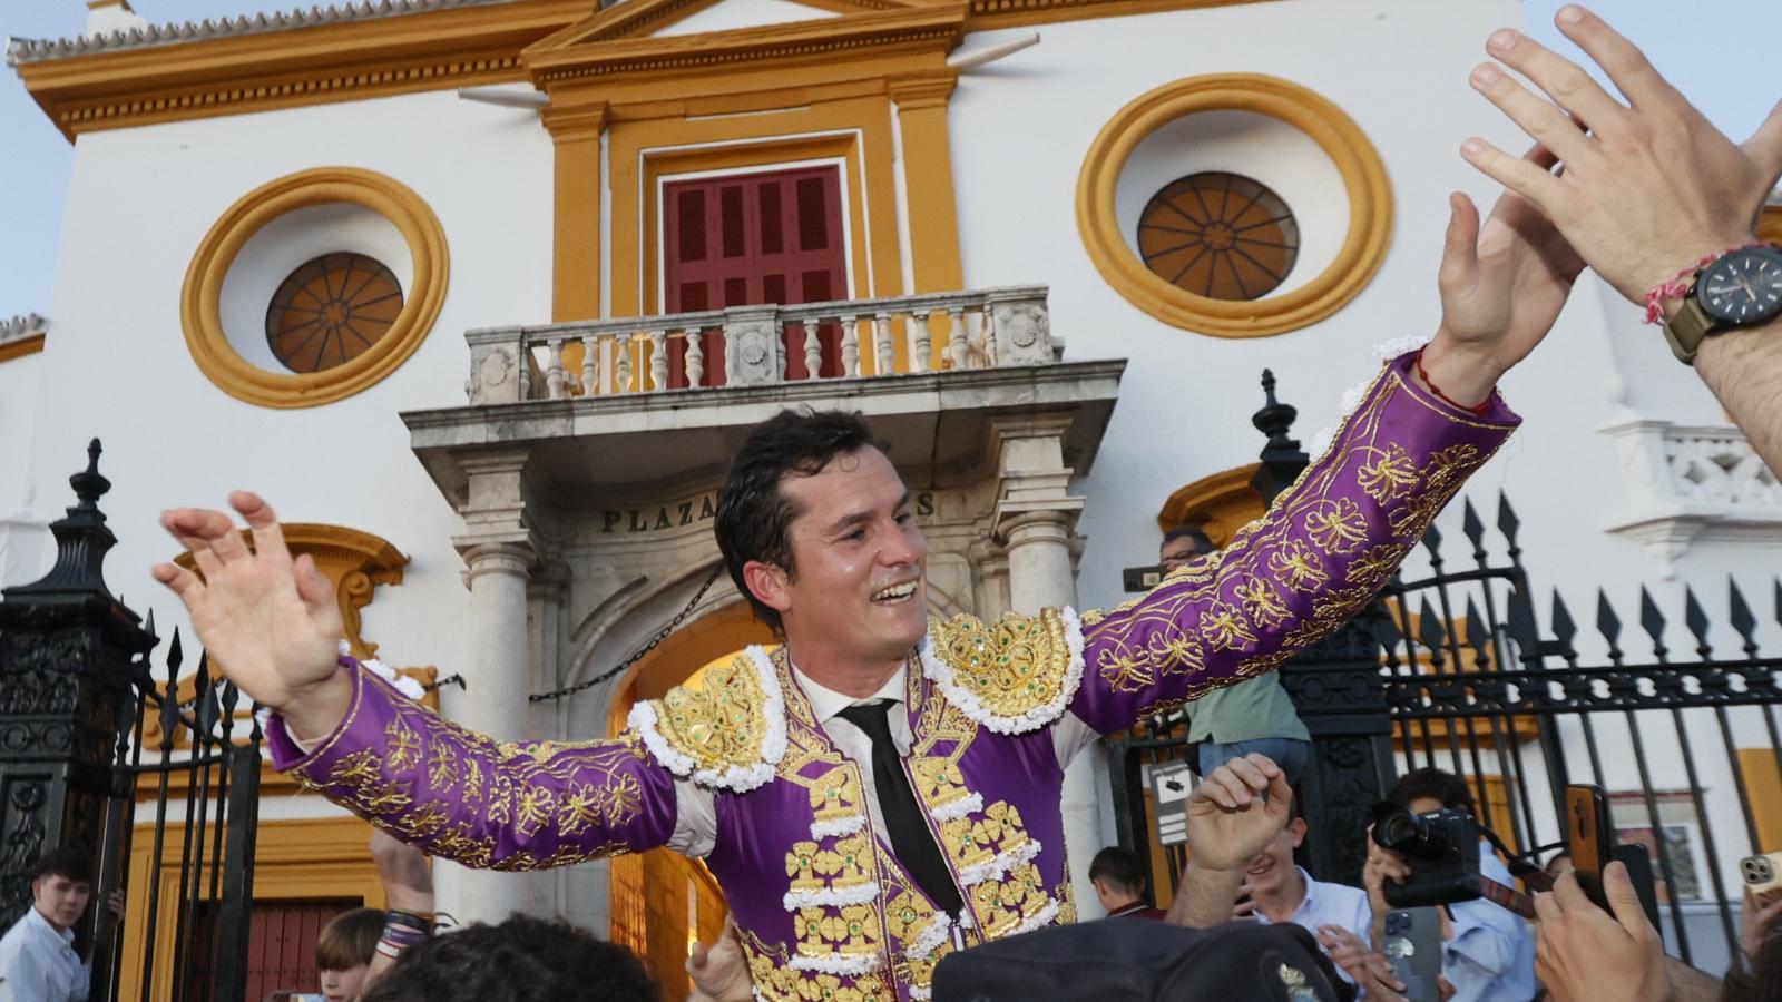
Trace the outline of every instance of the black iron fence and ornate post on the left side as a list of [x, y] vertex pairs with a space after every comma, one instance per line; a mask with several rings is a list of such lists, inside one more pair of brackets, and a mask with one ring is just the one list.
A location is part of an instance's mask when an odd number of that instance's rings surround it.
[[[94, 1000], [249, 1002], [246, 963], [260, 726], [208, 660], [182, 678], [175, 631], [160, 669], [153, 619], [105, 587], [116, 544], [98, 499], [100, 446], [52, 524], [55, 567], [0, 594], [0, 927], [30, 908], [30, 872], [59, 847], [96, 861], [75, 929]], [[134, 866], [143, 872], [132, 874]], [[125, 900], [137, 950], [107, 908]]]

